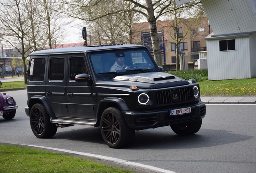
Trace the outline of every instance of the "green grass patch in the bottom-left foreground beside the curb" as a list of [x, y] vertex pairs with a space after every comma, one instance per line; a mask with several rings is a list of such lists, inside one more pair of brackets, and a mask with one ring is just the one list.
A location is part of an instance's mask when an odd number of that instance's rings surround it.
[[131, 172], [87, 159], [11, 145], [0, 145], [0, 153], [0, 173]]

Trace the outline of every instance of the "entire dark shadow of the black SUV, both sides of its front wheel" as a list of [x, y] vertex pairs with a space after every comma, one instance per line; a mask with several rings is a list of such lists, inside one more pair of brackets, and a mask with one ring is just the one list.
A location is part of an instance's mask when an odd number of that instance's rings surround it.
[[[68, 127], [70, 128], [70, 127]], [[71, 127], [72, 128], [72, 127]], [[100, 128], [87, 127], [56, 133], [53, 137], [105, 145]], [[170, 127], [135, 131], [134, 141], [124, 149], [191, 149], [213, 147], [252, 139], [253, 136], [235, 134], [226, 130], [200, 129], [194, 135], [179, 136]]]

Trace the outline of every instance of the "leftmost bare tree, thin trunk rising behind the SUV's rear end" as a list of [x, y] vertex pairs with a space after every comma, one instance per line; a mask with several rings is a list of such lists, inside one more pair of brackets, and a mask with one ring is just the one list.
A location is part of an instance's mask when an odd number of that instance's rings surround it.
[[[0, 4], [2, 39], [21, 54], [24, 72], [26, 72], [26, 54], [31, 48], [28, 36], [31, 28], [28, 23], [27, 11], [21, 0], [1, 0]], [[24, 83], [27, 84], [26, 73], [24, 73]]]

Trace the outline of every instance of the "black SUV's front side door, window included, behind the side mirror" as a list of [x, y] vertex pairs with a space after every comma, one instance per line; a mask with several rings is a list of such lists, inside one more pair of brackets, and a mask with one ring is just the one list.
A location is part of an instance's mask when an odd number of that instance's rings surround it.
[[84, 56], [68, 56], [68, 68], [66, 99], [69, 116], [95, 119], [91, 86], [74, 80], [77, 74], [88, 74]]

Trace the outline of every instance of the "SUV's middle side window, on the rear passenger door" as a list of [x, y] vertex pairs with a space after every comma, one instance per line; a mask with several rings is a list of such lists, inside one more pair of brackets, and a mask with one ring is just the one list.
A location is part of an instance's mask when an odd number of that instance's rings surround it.
[[52, 58], [50, 60], [50, 80], [64, 79], [64, 58]]

